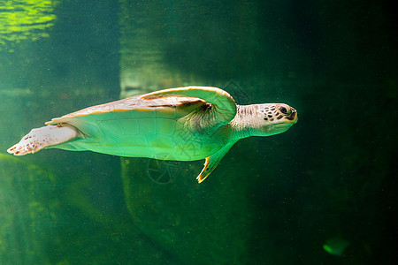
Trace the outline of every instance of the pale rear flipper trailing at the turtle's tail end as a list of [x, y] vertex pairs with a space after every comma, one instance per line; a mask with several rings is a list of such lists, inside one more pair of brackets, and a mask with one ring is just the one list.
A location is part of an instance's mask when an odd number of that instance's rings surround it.
[[42, 148], [54, 146], [79, 137], [79, 131], [71, 125], [48, 125], [27, 133], [18, 144], [7, 150], [14, 155], [34, 154]]

